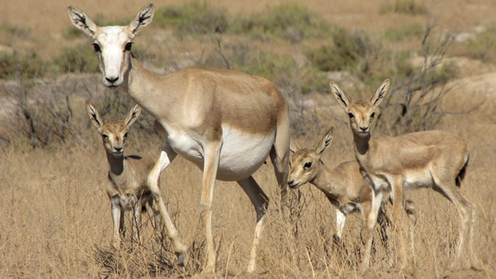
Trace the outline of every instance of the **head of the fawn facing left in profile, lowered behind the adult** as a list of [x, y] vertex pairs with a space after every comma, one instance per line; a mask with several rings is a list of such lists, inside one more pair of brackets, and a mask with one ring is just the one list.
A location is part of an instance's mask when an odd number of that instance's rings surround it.
[[334, 127], [331, 127], [314, 148], [300, 148], [291, 151], [291, 171], [288, 176], [288, 186], [297, 189], [303, 184], [312, 181], [322, 169], [322, 153], [331, 144]]

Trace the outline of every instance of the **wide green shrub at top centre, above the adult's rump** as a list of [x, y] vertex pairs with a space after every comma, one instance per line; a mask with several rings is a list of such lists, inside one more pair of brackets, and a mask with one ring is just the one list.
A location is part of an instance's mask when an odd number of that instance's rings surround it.
[[330, 30], [329, 25], [316, 14], [310, 13], [306, 6], [296, 3], [276, 5], [267, 12], [236, 19], [233, 29], [240, 34], [274, 36], [293, 43], [301, 42], [304, 37], [323, 36]]

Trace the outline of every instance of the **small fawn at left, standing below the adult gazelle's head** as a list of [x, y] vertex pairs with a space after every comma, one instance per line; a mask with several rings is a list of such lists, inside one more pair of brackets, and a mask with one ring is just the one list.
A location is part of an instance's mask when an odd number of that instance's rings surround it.
[[[134, 105], [122, 121], [103, 121], [100, 113], [89, 101], [86, 102], [86, 113], [91, 123], [102, 136], [103, 146], [107, 153], [109, 173], [107, 180], [107, 195], [109, 196], [114, 224], [113, 246], [120, 247], [121, 234], [124, 233], [124, 214], [128, 209], [133, 210], [133, 220], [136, 223], [136, 236], [139, 241], [139, 226], [141, 223], [142, 206], [148, 203], [157, 216], [157, 209], [151, 192], [146, 185], [148, 173], [155, 162], [149, 156], [124, 156], [124, 146], [127, 130], [136, 121], [141, 108]], [[157, 218], [155, 218], [158, 227]]]

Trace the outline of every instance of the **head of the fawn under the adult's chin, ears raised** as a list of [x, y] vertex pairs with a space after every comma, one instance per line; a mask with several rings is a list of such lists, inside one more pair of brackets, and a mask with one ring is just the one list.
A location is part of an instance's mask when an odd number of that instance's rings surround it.
[[95, 106], [89, 101], [86, 101], [86, 113], [91, 123], [97, 128], [98, 133], [102, 135], [103, 146], [107, 154], [116, 158], [123, 157], [127, 129], [136, 121], [141, 113], [141, 108], [138, 105], [134, 105], [123, 121], [104, 122]]

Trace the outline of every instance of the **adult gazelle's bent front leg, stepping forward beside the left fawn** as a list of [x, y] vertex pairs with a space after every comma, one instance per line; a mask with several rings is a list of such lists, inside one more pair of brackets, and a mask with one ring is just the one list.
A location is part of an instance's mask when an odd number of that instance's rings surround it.
[[174, 223], [167, 212], [167, 209], [164, 204], [164, 200], [162, 199], [162, 194], [160, 193], [160, 189], [158, 188], [158, 179], [160, 177], [160, 173], [169, 166], [169, 164], [174, 160], [177, 153], [171, 148], [171, 146], [167, 143], [162, 147], [162, 152], [160, 153], [160, 157], [155, 163], [152, 171], [148, 175], [148, 188], [150, 189], [153, 200], [155, 201], [155, 205], [160, 212], [160, 216], [164, 222], [165, 228], [167, 230], [167, 234], [169, 239], [172, 241], [172, 246], [176, 255], [178, 257], [178, 263], [180, 266], [185, 264], [187, 247], [181, 241], [179, 237], [179, 233], [174, 226]]

